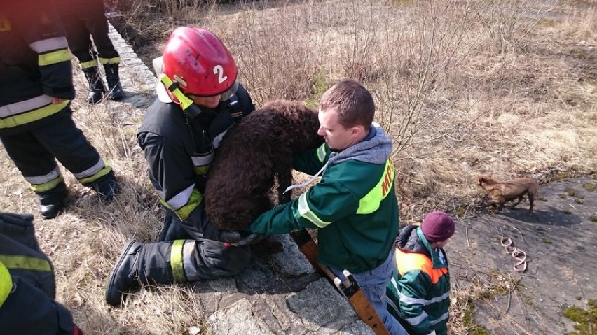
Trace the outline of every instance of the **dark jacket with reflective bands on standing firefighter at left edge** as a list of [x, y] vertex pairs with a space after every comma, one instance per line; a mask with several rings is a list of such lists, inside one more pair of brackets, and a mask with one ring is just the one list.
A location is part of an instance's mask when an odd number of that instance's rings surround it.
[[[67, 38], [51, 1], [0, 3], [0, 134], [46, 122], [74, 98]], [[64, 99], [52, 104], [52, 97]]]

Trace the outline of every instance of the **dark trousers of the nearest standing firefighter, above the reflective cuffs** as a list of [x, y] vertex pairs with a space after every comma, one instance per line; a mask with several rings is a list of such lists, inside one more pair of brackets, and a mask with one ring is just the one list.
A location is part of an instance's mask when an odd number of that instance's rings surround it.
[[95, 166], [99, 153], [71, 118], [70, 107], [53, 115], [48, 122], [16, 134], [0, 134], [8, 156], [25, 177], [46, 176], [56, 167], [56, 159], [71, 173]]

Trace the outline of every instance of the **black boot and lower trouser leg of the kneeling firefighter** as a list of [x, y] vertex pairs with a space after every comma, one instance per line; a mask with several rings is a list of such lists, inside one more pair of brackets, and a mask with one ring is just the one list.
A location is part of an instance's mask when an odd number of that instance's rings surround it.
[[170, 267], [171, 243], [140, 243], [130, 241], [112, 269], [106, 287], [106, 301], [121, 306], [126, 295], [137, 292], [142, 285], [174, 283]]

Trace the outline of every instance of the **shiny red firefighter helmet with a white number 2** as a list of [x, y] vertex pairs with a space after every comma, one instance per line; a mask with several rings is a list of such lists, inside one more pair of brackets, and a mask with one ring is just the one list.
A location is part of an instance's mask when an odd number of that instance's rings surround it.
[[163, 73], [177, 82], [184, 94], [212, 97], [238, 85], [232, 55], [207, 29], [174, 29], [164, 48], [163, 64]]

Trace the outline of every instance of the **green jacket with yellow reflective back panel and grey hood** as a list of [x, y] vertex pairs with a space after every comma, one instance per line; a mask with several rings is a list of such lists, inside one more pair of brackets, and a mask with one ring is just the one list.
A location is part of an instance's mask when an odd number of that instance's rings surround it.
[[373, 124], [363, 141], [341, 152], [327, 144], [294, 159], [294, 169], [320, 183], [297, 199], [263, 213], [249, 227], [261, 234], [317, 228], [318, 262], [362, 273], [380, 266], [398, 231], [392, 141]]

